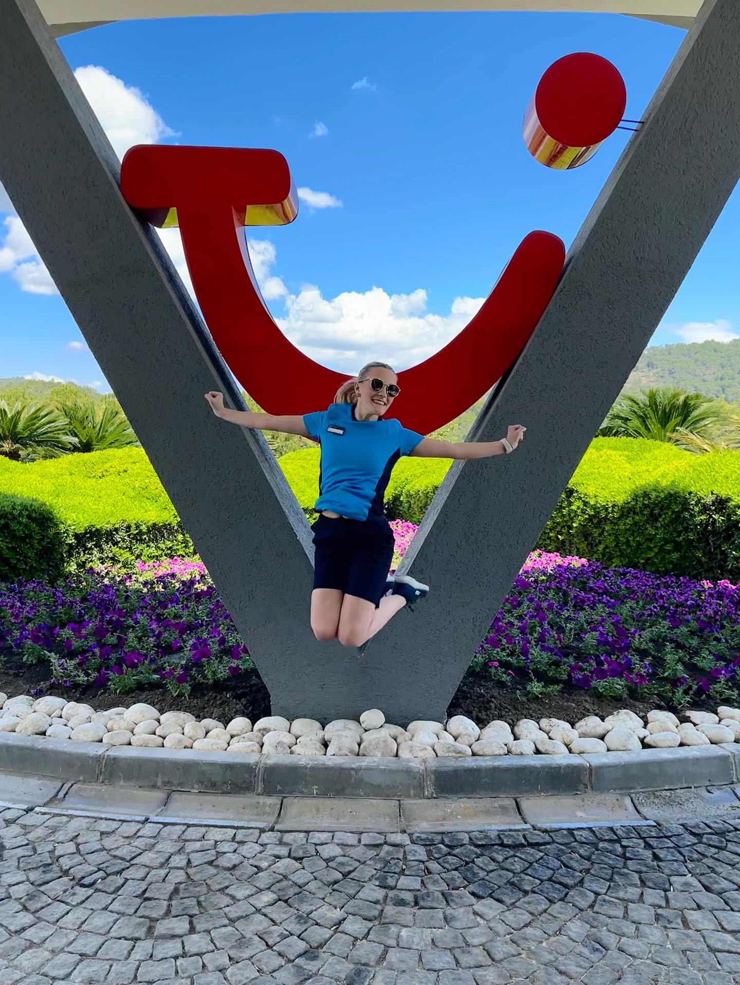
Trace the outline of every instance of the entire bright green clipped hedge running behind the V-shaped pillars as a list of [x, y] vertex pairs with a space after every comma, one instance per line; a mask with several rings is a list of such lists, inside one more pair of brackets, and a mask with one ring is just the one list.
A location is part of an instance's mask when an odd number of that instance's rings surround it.
[[[284, 455], [279, 464], [310, 513], [318, 449]], [[450, 464], [401, 459], [388, 484], [389, 516], [419, 523]], [[536, 547], [657, 574], [738, 581], [740, 452], [693, 455], [664, 442], [596, 438]], [[141, 448], [32, 464], [0, 457], [0, 579], [192, 553]]]

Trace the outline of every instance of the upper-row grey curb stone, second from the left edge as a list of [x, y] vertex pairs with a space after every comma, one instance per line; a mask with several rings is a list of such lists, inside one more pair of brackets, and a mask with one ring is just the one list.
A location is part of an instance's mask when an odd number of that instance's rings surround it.
[[[43, 741], [48, 742], [47, 739]], [[103, 783], [158, 790], [251, 794], [254, 793], [258, 758], [257, 755], [212, 753], [207, 750], [192, 755], [187, 750], [126, 749], [119, 746], [105, 756], [101, 780]]]

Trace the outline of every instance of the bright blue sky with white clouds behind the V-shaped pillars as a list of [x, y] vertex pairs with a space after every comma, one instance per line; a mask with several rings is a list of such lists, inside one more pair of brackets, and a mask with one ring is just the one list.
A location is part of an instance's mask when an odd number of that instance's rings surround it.
[[[60, 44], [119, 153], [158, 141], [286, 156], [307, 190], [292, 226], [250, 230], [258, 277], [289, 337], [352, 372], [440, 348], [530, 230], [570, 245], [629, 134], [571, 172], [534, 162], [521, 118], [544, 70], [605, 56], [639, 118], [683, 37], [612, 15], [338, 14], [128, 22]], [[0, 376], [108, 389], [5, 206]], [[739, 220], [736, 191], [653, 345], [740, 333]], [[187, 283], [177, 233], [165, 242]]]

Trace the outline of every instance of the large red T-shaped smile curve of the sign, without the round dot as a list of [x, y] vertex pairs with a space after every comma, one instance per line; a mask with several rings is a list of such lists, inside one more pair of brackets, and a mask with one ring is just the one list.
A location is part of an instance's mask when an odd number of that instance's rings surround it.
[[[268, 414], [327, 406], [347, 379], [308, 359], [259, 293], [244, 228], [298, 215], [288, 163], [253, 148], [132, 147], [121, 164], [126, 202], [153, 226], [178, 226], [195, 295], [222, 357]], [[395, 401], [406, 427], [429, 434], [454, 420], [519, 357], [553, 296], [565, 247], [550, 232], [524, 237], [470, 323], [435, 356], [403, 370]], [[378, 355], [378, 359], [382, 353]], [[431, 401], [444, 380], [444, 400]]]

